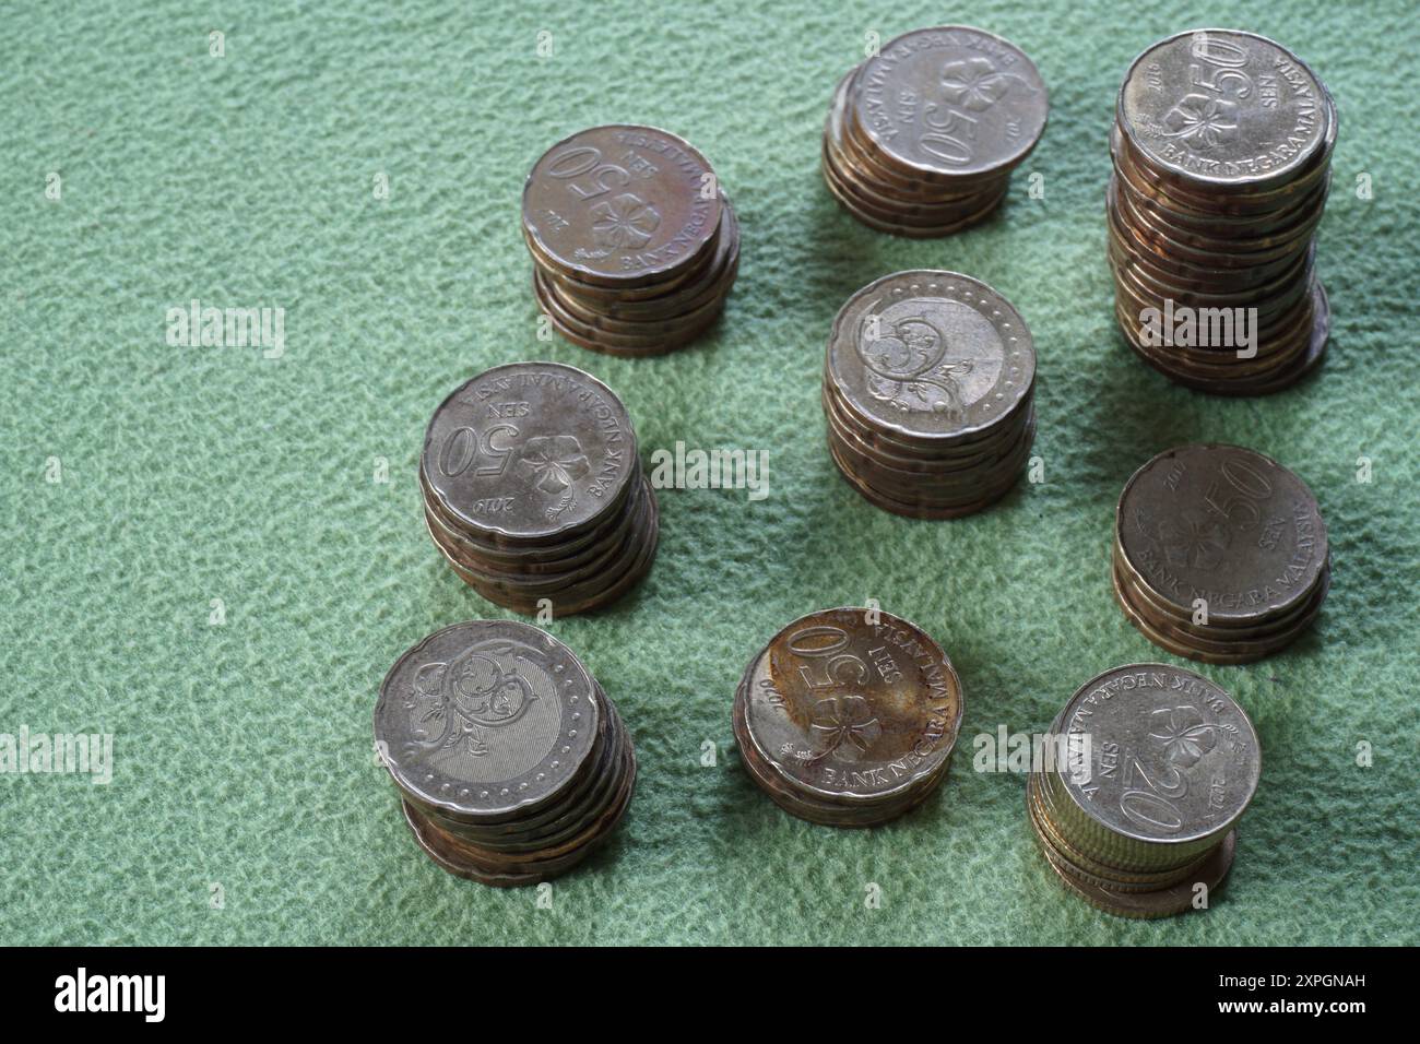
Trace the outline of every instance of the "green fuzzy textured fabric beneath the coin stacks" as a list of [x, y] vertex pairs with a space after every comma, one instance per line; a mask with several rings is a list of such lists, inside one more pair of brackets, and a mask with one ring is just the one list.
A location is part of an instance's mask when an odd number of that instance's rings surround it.
[[[116, 770], [108, 787], [0, 778], [0, 942], [1420, 939], [1410, 4], [64, 7], [0, 20], [0, 732], [111, 732]], [[944, 241], [876, 234], [819, 180], [829, 94], [865, 31], [951, 20], [1032, 55], [1049, 126], [987, 226]], [[1342, 112], [1319, 247], [1331, 355], [1316, 379], [1261, 401], [1170, 385], [1112, 324], [1115, 92], [1137, 51], [1197, 24], [1282, 41]], [[223, 58], [209, 57], [214, 28]], [[537, 339], [524, 173], [554, 141], [613, 121], [689, 138], [743, 223], [723, 322], [670, 358]], [[1027, 197], [1030, 172], [1044, 200]], [[1362, 172], [1370, 202], [1353, 192]], [[834, 312], [909, 267], [997, 287], [1039, 352], [1047, 482], [963, 521], [875, 510], [824, 447]], [[166, 310], [195, 297], [284, 307], [284, 358], [169, 347]], [[474, 372], [540, 357], [616, 389], [648, 453], [677, 439], [768, 449], [772, 483], [761, 503], [665, 491], [649, 581], [552, 626], [616, 700], [642, 774], [616, 839], [555, 883], [551, 910], [420, 855], [369, 739], [399, 652], [503, 615], [423, 531], [425, 423]], [[1335, 584], [1291, 651], [1201, 668], [1252, 714], [1262, 784], [1213, 910], [1133, 923], [1061, 889], [1032, 847], [1022, 778], [973, 773], [971, 737], [1039, 730], [1096, 672], [1169, 659], [1112, 602], [1110, 520], [1137, 464], [1204, 439], [1272, 455], [1312, 486]], [[1370, 484], [1355, 479], [1360, 456]], [[373, 480], [379, 459], [388, 483]], [[943, 642], [967, 712], [937, 798], [845, 832], [751, 785], [728, 712], [772, 632], [866, 597]], [[213, 598], [224, 626], [209, 626]], [[1370, 768], [1355, 763], [1360, 740]], [[882, 888], [878, 910], [866, 882]]]

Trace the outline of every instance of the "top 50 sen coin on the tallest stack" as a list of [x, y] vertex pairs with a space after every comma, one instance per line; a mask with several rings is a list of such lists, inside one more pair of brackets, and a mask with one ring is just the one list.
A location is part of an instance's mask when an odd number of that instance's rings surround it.
[[1156, 169], [1197, 186], [1285, 180], [1322, 148], [1326, 91], [1281, 44], [1238, 30], [1149, 47], [1119, 91], [1119, 125]]

